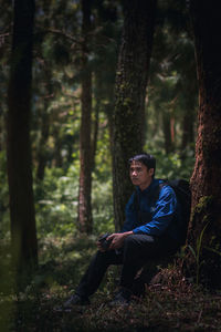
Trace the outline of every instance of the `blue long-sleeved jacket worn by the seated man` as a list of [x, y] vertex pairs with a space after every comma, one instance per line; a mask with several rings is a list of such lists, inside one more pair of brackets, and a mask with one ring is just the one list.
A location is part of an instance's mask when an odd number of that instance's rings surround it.
[[[157, 237], [167, 232], [171, 238], [179, 241], [180, 232], [177, 220], [180, 208], [173, 189], [165, 185], [159, 191], [157, 201], [156, 198], [152, 201], [152, 193], [156, 193], [156, 187], [160, 183], [162, 180], [154, 179], [150, 186], [143, 191], [136, 187], [136, 191], [133, 193], [126, 205], [126, 220], [122, 231], [133, 230], [134, 234]], [[136, 199], [137, 203], [135, 203]], [[139, 212], [136, 204], [139, 206]]]

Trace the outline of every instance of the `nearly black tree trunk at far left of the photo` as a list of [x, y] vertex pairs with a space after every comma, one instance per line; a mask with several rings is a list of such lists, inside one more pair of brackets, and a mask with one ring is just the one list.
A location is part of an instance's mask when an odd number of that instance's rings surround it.
[[12, 252], [20, 269], [38, 262], [30, 148], [34, 1], [14, 0], [13, 4], [7, 152]]

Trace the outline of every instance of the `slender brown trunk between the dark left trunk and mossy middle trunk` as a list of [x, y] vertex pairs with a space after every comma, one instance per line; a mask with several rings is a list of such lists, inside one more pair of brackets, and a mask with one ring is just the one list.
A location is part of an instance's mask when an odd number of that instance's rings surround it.
[[82, 0], [82, 120], [80, 132], [80, 194], [78, 194], [78, 228], [81, 232], [92, 232], [92, 72], [88, 68], [88, 32], [91, 28], [91, 0]]

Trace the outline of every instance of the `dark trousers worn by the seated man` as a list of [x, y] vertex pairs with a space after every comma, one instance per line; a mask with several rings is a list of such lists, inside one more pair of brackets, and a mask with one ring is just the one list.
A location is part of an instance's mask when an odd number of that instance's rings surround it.
[[122, 250], [96, 252], [76, 293], [81, 297], [92, 295], [110, 264], [123, 264], [119, 286], [131, 290], [134, 279], [144, 264], [151, 259], [170, 256], [177, 249], [177, 242], [167, 236], [156, 238], [147, 235], [130, 235], [125, 239]]

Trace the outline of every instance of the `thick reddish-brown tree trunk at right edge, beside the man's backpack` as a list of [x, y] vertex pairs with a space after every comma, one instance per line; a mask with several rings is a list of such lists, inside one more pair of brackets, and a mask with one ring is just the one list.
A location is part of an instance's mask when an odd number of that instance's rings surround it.
[[[199, 253], [198, 277], [221, 286], [221, 21], [219, 1], [190, 1], [199, 80], [199, 127], [191, 177], [189, 243]], [[207, 22], [207, 24], [206, 24]], [[200, 243], [200, 245], [199, 245]], [[200, 263], [204, 261], [204, 264]], [[202, 279], [201, 279], [202, 280]]]

